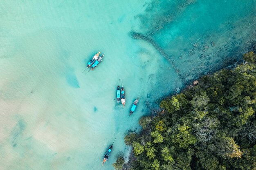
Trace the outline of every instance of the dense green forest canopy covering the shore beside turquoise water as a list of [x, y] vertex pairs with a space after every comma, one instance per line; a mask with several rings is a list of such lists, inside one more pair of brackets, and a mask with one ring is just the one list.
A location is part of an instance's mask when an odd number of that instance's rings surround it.
[[256, 170], [256, 55], [243, 59], [142, 117], [141, 133], [125, 137], [136, 157], [130, 169]]

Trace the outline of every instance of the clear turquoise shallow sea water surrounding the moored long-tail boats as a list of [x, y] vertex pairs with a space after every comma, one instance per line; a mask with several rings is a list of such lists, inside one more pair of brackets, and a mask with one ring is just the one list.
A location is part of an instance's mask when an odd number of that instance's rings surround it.
[[[112, 170], [128, 155], [127, 131], [162, 96], [247, 51], [255, 14], [255, 0], [2, 0], [0, 169]], [[103, 62], [82, 74], [98, 51]]]

